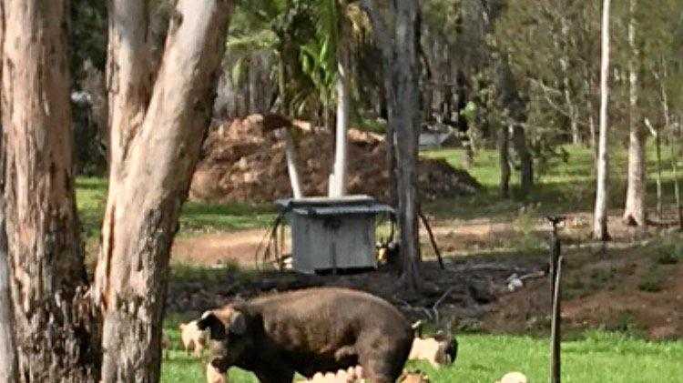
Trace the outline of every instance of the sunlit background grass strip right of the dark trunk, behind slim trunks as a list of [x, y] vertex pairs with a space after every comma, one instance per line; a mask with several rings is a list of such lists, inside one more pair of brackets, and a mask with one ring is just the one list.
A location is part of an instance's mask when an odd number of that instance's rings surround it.
[[[617, 144], [617, 143], [615, 143]], [[513, 169], [511, 190], [513, 197], [498, 197], [498, 154], [493, 149], [483, 149], [474, 157], [474, 163], [467, 168], [484, 190], [473, 197], [443, 199], [425, 203], [425, 209], [437, 217], [457, 217], [472, 219], [486, 217], [493, 220], [510, 220], [519, 207], [534, 204], [539, 216], [546, 214], [565, 214], [577, 211], [591, 211], [594, 202], [595, 172], [591, 149], [583, 146], [563, 146], [568, 154], [566, 162], [554, 158], [544, 169], [536, 168], [535, 188], [529, 195], [519, 190], [518, 171]], [[443, 158], [451, 166], [463, 168], [464, 150], [438, 149], [425, 150], [421, 156]], [[672, 203], [673, 173], [671, 151], [662, 147], [662, 187], [664, 203]], [[651, 140], [647, 145], [647, 205], [656, 203], [656, 156]], [[622, 146], [615, 145], [610, 152], [610, 190], [609, 207], [620, 208], [624, 205], [627, 178], [627, 153]]]

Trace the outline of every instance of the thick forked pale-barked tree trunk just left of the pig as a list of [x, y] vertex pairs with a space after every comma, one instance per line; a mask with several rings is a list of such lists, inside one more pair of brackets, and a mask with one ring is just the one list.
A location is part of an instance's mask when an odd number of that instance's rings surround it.
[[227, 0], [179, 0], [152, 88], [144, 3], [109, 7], [113, 156], [95, 280], [106, 382], [158, 381], [168, 254], [209, 125], [232, 9]]

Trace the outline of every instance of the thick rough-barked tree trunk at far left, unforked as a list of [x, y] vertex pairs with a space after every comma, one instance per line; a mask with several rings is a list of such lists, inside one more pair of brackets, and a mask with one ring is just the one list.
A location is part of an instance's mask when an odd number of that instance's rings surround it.
[[[66, 1], [5, 1], [5, 231], [20, 381], [97, 378], [74, 197]], [[11, 44], [10, 44], [11, 42]], [[4, 307], [5, 315], [6, 309]]]

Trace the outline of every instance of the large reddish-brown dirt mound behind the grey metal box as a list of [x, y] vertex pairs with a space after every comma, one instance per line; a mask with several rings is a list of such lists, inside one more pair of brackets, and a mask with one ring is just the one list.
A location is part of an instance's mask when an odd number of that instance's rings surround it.
[[[301, 186], [306, 196], [327, 195], [333, 161], [333, 137], [295, 122]], [[264, 129], [258, 115], [236, 119], [212, 129], [192, 179], [190, 198], [221, 201], [272, 201], [291, 196], [284, 142]], [[386, 199], [388, 172], [382, 136], [349, 131], [350, 194]], [[443, 160], [421, 159], [418, 184], [425, 199], [471, 195], [481, 187], [463, 170]]]

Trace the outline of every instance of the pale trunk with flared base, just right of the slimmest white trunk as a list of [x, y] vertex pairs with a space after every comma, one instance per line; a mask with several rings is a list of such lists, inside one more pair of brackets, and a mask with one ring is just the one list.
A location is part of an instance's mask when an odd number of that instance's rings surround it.
[[638, 113], [638, 65], [639, 53], [636, 42], [636, 7], [637, 0], [630, 0], [628, 21], [628, 180], [627, 197], [624, 208], [624, 221], [629, 225], [644, 226], [646, 224], [646, 160], [645, 132], [640, 123]]

